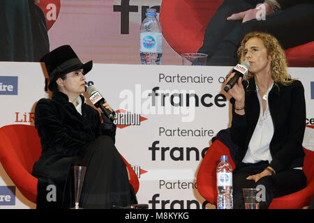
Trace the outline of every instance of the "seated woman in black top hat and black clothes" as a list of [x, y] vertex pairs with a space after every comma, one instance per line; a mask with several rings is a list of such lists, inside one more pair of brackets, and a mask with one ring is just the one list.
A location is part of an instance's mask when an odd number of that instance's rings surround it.
[[[87, 167], [80, 199], [83, 208], [137, 203], [126, 165], [114, 146], [116, 125], [103, 114], [102, 123], [99, 112], [84, 103], [81, 95], [92, 61], [82, 63], [64, 45], [46, 54], [43, 62], [52, 99], [40, 99], [35, 109], [35, 127], [43, 147], [32, 172], [38, 178], [37, 208], [74, 206], [75, 164]], [[103, 106], [112, 110], [107, 102]]]

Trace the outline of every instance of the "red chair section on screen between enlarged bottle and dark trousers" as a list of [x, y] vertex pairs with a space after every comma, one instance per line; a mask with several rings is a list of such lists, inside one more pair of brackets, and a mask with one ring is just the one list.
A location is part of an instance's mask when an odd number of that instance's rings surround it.
[[163, 36], [178, 54], [197, 52], [204, 32], [223, 0], [163, 0], [159, 20]]

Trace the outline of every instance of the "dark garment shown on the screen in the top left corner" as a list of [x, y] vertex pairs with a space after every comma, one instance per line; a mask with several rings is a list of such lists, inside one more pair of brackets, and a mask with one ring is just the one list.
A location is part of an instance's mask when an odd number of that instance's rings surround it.
[[50, 49], [45, 14], [34, 0], [0, 1], [0, 61], [40, 61]]

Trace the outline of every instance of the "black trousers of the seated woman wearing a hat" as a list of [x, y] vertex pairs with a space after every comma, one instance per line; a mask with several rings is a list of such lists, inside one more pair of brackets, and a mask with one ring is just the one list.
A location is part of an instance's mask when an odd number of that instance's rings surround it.
[[87, 167], [80, 203], [83, 208], [112, 208], [137, 203], [126, 164], [108, 136], [100, 136], [75, 164]]

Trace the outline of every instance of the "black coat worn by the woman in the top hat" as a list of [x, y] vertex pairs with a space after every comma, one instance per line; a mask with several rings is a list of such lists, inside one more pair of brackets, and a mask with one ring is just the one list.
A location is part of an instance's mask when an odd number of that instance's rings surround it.
[[[35, 127], [43, 148], [32, 172], [38, 178], [38, 208], [67, 207], [67, 202], [72, 202], [68, 198], [73, 196], [72, 185], [67, 183], [73, 176], [73, 162], [100, 135], [110, 136], [114, 141], [116, 125], [105, 116], [101, 123], [98, 111], [80, 97], [82, 115], [69, 102], [68, 95], [61, 92], [54, 93], [52, 99], [40, 99], [36, 105]], [[50, 184], [57, 187], [57, 202], [47, 203], [46, 187]]]

